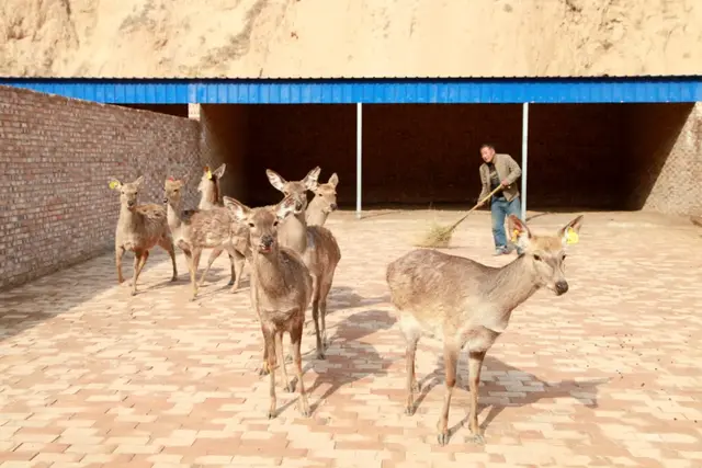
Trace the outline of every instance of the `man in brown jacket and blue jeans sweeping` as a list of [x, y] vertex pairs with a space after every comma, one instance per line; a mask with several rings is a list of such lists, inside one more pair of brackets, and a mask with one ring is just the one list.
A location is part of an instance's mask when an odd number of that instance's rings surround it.
[[[492, 216], [492, 238], [495, 240], [495, 255], [511, 253], [513, 244], [505, 235], [505, 219], [509, 215], [521, 218], [519, 203], [519, 189], [517, 179], [522, 174], [519, 164], [506, 153], [496, 153], [495, 147], [484, 144], [480, 147], [480, 182], [483, 190], [478, 201], [485, 198], [491, 191], [501, 186], [502, 190], [490, 197], [490, 213]], [[484, 203], [480, 204], [483, 206]], [[521, 248], [517, 247], [517, 253], [521, 254]]]

